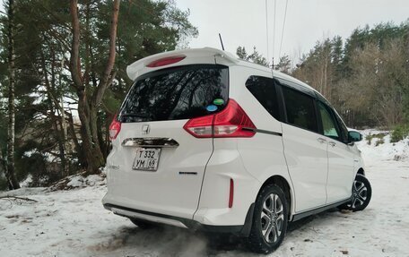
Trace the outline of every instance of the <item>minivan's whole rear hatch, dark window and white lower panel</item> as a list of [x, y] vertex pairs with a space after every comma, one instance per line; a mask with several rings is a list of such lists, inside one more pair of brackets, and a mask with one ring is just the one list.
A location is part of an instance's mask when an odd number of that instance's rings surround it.
[[221, 111], [228, 94], [229, 69], [221, 64], [172, 66], [138, 77], [117, 115], [120, 133], [108, 159], [118, 167], [109, 175], [117, 204], [193, 218], [213, 138], [196, 138], [184, 125]]

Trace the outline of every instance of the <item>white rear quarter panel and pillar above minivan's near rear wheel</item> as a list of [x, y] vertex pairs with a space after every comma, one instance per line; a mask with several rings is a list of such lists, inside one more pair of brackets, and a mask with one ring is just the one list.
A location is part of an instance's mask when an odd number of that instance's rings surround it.
[[[281, 123], [265, 110], [245, 86], [248, 77], [252, 75], [273, 78], [271, 70], [261, 65], [241, 61], [239, 64], [231, 65], [230, 71], [234, 74], [231, 76], [231, 98], [238, 100], [240, 107], [243, 107], [257, 129], [282, 133]], [[274, 76], [294, 80], [283, 73], [274, 72]], [[283, 154], [282, 138], [273, 134], [257, 133], [251, 139], [239, 139], [238, 149], [248, 173], [261, 184], [271, 176], [282, 176], [290, 184], [293, 213], [295, 211], [294, 192]]]

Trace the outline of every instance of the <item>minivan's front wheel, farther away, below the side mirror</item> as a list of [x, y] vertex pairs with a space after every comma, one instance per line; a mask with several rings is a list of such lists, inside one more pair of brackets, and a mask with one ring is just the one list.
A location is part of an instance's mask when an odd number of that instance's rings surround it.
[[343, 210], [359, 211], [367, 208], [372, 197], [372, 188], [370, 181], [365, 176], [357, 174], [352, 184], [351, 201], [341, 205], [339, 208]]

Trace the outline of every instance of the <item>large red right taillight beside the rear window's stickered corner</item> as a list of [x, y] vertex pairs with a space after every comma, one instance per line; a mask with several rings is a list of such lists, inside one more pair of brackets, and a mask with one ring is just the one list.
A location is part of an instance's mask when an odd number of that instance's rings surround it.
[[256, 125], [233, 99], [220, 113], [190, 119], [183, 128], [197, 138], [252, 137], [256, 133]]

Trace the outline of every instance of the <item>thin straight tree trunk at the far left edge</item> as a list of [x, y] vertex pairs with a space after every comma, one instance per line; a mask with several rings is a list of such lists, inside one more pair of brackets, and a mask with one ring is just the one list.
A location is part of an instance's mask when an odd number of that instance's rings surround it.
[[10, 189], [20, 188], [14, 172], [14, 141], [15, 141], [15, 108], [14, 108], [14, 83], [15, 83], [15, 53], [14, 53], [14, 1], [8, 1], [8, 61], [9, 61], [9, 92], [8, 92], [8, 136], [7, 136], [7, 169], [5, 176]]

